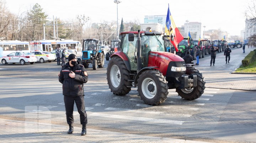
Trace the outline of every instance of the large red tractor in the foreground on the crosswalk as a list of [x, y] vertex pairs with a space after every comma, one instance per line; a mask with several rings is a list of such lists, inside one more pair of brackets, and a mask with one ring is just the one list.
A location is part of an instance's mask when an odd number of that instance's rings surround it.
[[114, 95], [123, 96], [138, 87], [145, 104], [165, 102], [168, 89], [176, 88], [179, 96], [194, 100], [204, 92], [202, 73], [185, 64], [170, 52], [165, 52], [161, 32], [122, 32], [118, 52], [111, 56], [107, 67], [108, 86]]

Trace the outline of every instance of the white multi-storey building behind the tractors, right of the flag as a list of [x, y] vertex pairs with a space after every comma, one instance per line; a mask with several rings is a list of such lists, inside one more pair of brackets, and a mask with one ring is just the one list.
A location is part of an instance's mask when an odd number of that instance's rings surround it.
[[191, 38], [193, 40], [198, 40], [199, 36], [201, 36], [201, 39], [203, 38], [203, 35], [201, 35], [201, 22], [188, 22], [184, 23], [184, 37], [188, 37], [188, 32], [190, 32]]

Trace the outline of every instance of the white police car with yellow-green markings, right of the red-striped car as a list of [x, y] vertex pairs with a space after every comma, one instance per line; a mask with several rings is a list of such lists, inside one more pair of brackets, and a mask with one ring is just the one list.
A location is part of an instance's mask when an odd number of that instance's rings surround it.
[[36, 55], [37, 62], [40, 63], [44, 63], [45, 61], [52, 62], [55, 59], [54, 54], [46, 51], [35, 51], [32, 54]]

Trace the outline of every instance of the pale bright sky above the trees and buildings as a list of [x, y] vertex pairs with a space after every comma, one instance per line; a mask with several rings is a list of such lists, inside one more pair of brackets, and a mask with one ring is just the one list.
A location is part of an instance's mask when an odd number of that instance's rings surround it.
[[[118, 4], [118, 22], [139, 21], [144, 16], [166, 15], [168, 4], [177, 27], [185, 21], [201, 22], [205, 30], [221, 29], [230, 35], [239, 35], [245, 28], [245, 11], [251, 0], [121, 0]], [[48, 18], [75, 19], [77, 15], [91, 18], [98, 23], [117, 20], [117, 4], [114, 0], [6, 0], [7, 9], [21, 13], [38, 3]], [[15, 4], [15, 5], [14, 5]], [[203, 32], [202, 32], [203, 33]]]

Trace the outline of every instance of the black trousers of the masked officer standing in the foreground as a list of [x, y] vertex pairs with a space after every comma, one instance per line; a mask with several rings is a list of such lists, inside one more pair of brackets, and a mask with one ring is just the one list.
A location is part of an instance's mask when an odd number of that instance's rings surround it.
[[84, 103], [84, 96], [64, 96], [64, 103], [65, 103], [65, 109], [66, 109], [66, 119], [68, 124], [74, 123], [74, 102], [76, 103], [76, 108], [78, 109], [78, 113], [80, 114], [80, 123], [82, 125], [87, 124], [87, 114], [85, 111], [85, 103]]

